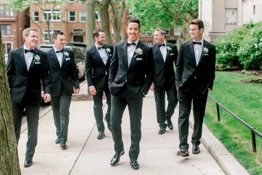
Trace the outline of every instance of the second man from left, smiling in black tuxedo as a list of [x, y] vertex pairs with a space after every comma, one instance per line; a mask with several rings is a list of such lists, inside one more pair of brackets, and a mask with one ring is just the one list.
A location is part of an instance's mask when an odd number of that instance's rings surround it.
[[73, 51], [64, 48], [64, 33], [53, 33], [52, 40], [53, 48], [47, 52], [47, 59], [50, 69], [51, 107], [58, 137], [56, 144], [60, 143], [61, 148], [67, 148], [71, 97], [80, 90], [78, 70]]

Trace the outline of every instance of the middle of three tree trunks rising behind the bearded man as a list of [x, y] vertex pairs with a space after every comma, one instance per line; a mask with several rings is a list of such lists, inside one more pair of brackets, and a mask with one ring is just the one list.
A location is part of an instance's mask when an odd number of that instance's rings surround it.
[[110, 23], [109, 12], [108, 12], [109, 3], [110, 3], [110, 0], [102, 0], [99, 2], [97, 1], [101, 23], [102, 23], [102, 29], [104, 30], [106, 34], [106, 44], [112, 45], [112, 39], [111, 39], [111, 34], [110, 34], [110, 25], [109, 25]]

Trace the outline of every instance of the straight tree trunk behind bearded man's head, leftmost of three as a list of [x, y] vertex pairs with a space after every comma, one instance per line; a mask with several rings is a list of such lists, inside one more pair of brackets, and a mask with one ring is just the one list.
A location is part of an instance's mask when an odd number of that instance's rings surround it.
[[86, 0], [86, 44], [90, 48], [94, 45], [93, 31], [95, 30], [95, 0]]

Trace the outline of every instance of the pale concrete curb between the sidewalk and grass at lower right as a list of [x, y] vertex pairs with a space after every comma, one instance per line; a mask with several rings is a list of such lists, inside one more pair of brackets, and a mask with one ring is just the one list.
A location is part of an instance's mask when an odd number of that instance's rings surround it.
[[[189, 116], [189, 124], [193, 130], [193, 114]], [[213, 135], [213, 133], [203, 123], [202, 138], [200, 139], [204, 147], [210, 152], [215, 161], [219, 164], [226, 175], [249, 175], [248, 171], [235, 159], [225, 146]]]

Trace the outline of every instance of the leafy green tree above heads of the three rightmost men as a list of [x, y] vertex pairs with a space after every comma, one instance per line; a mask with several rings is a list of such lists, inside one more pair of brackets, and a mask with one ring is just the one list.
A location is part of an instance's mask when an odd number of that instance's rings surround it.
[[182, 40], [188, 37], [188, 23], [198, 18], [198, 0], [127, 0], [127, 5], [143, 24], [143, 32], [153, 32], [156, 27], [167, 30], [178, 25]]

